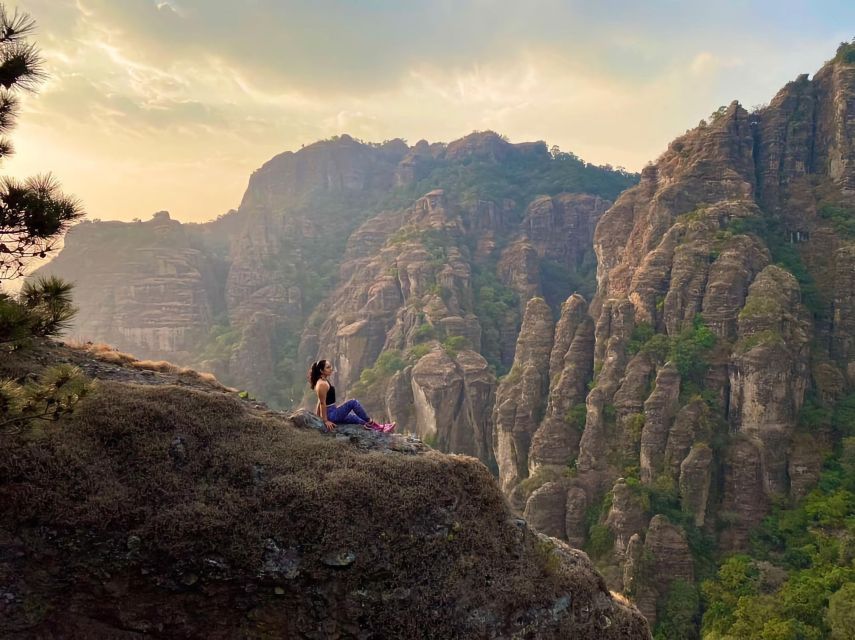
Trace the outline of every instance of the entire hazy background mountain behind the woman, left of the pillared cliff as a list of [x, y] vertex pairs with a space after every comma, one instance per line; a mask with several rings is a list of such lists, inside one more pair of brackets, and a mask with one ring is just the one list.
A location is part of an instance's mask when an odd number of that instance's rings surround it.
[[343, 396], [492, 464], [496, 375], [526, 302], [557, 314], [593, 291], [594, 227], [634, 181], [492, 132], [340, 136], [270, 160], [215, 222], [81, 225], [46, 270], [76, 282], [77, 336], [284, 406], [327, 357]]

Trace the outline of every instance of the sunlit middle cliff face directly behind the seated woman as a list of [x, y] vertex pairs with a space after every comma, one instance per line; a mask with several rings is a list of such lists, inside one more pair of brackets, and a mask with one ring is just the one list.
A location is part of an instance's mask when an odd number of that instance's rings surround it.
[[[495, 283], [524, 304], [541, 293], [545, 261], [578, 272], [586, 237], [607, 205], [595, 196], [543, 197], [514, 223], [513, 203], [497, 211], [493, 203], [469, 204], [437, 189], [398, 214], [372, 218], [351, 235], [342, 284], [310, 319], [319, 328], [304, 332], [303, 351], [334, 354], [336, 384], [345, 390], [366, 372], [356, 393], [372, 410], [444, 451], [492, 464], [494, 455], [505, 455], [494, 453], [495, 366], [514, 357], [507, 336], [518, 334], [520, 316], [515, 306], [495, 313], [483, 304], [485, 294]], [[511, 241], [499, 253], [485, 248], [485, 238]], [[481, 273], [491, 257], [497, 259], [498, 278], [491, 275], [485, 284]], [[552, 310], [539, 300], [542, 319], [551, 325]], [[538, 364], [546, 380], [551, 334], [541, 337], [541, 329], [526, 334], [550, 343], [543, 356], [547, 366]], [[485, 332], [492, 334], [485, 338]], [[494, 354], [493, 363], [485, 353]], [[383, 369], [381, 354], [395, 359], [397, 373]], [[500, 396], [513, 393], [500, 390]], [[501, 439], [501, 429], [495, 437]]]

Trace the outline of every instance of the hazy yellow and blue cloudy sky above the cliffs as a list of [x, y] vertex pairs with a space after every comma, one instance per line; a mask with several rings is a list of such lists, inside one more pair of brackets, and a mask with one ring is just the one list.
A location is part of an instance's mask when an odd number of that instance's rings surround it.
[[[7, 6], [15, 7], [8, 2]], [[733, 99], [766, 103], [855, 36], [852, 0], [26, 0], [50, 80], [6, 173], [90, 218], [237, 207], [271, 156], [349, 133], [494, 129], [639, 170]]]

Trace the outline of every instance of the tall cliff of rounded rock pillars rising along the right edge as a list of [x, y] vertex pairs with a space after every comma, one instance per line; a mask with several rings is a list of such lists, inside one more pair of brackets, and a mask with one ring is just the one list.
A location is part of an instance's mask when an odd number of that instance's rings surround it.
[[[831, 425], [803, 408], [855, 390], [853, 113], [855, 66], [837, 61], [671, 143], [594, 234], [581, 437], [570, 424], [497, 422], [534, 442], [560, 434], [546, 449], [569, 464], [538, 475], [534, 446], [528, 474], [499, 457], [503, 489], [545, 531], [586, 541], [651, 622], [671, 583], [694, 579], [689, 539], [744, 549], [773, 501], [805, 494]], [[567, 327], [559, 352], [580, 337]], [[562, 375], [553, 363], [548, 384]]]

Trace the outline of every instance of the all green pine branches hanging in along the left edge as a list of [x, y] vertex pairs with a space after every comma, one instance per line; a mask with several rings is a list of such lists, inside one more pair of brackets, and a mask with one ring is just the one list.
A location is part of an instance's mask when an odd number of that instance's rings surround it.
[[[34, 91], [44, 79], [38, 49], [27, 42], [35, 22], [9, 13], [0, 4], [0, 159], [12, 153], [3, 137], [18, 113], [17, 93]], [[0, 280], [23, 275], [27, 260], [45, 257], [72, 221], [83, 215], [73, 198], [59, 191], [51, 176], [23, 182], [0, 179]], [[71, 284], [51, 276], [27, 282], [18, 299], [0, 291], [0, 356], [27, 346], [33, 337], [57, 335], [77, 310]], [[0, 378], [0, 432], [39, 420], [57, 420], [72, 411], [88, 391], [79, 369], [68, 364], [32, 374], [23, 384]]]

